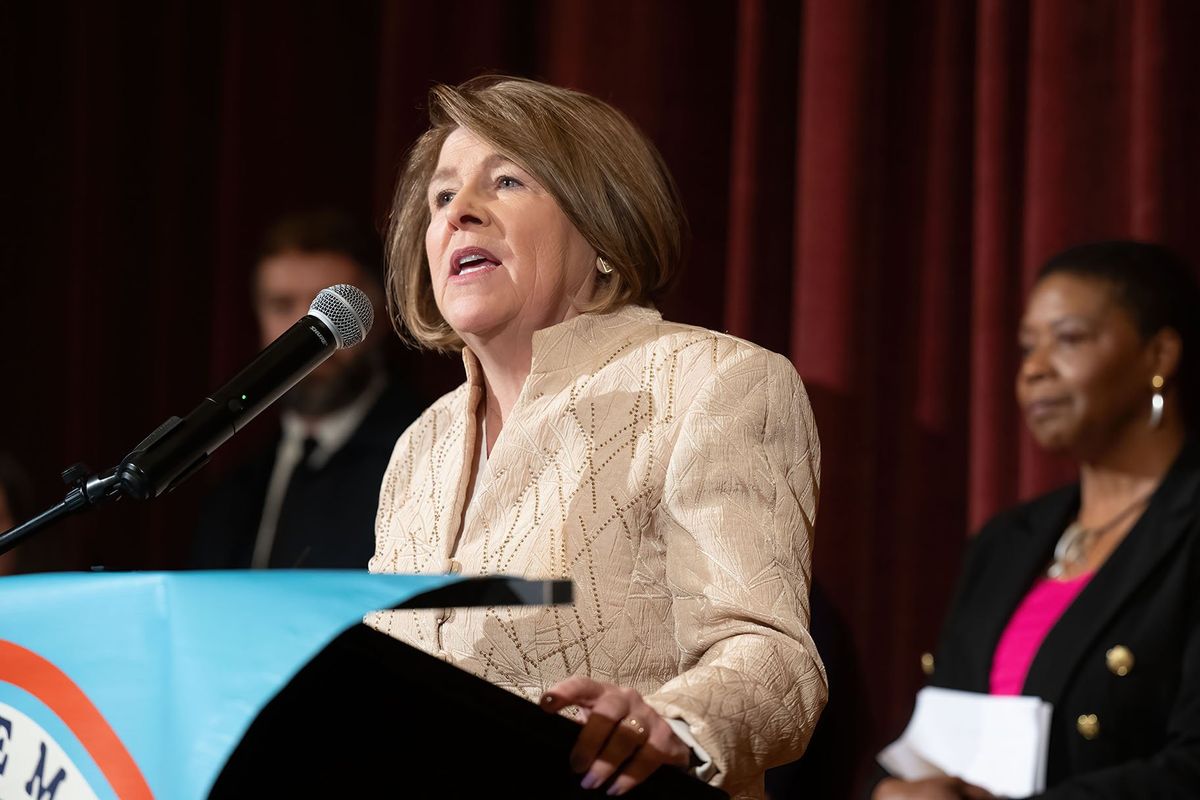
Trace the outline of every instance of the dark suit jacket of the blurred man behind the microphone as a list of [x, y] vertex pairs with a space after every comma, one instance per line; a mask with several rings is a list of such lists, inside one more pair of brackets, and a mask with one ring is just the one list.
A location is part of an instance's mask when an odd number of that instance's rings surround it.
[[[298, 474], [271, 551], [271, 566], [365, 570], [374, 553], [379, 485], [396, 439], [420, 408], [392, 379], [344, 445], [319, 470]], [[210, 494], [197, 527], [192, 566], [251, 564], [278, 440], [234, 469]]]

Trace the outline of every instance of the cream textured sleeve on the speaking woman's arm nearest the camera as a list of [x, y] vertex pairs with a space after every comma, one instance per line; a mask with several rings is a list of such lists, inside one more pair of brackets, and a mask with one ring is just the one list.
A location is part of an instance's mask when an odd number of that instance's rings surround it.
[[809, 636], [821, 451], [796, 369], [766, 350], [720, 365], [679, 425], [654, 524], [683, 672], [647, 702], [737, 792], [798, 757], [826, 703]]

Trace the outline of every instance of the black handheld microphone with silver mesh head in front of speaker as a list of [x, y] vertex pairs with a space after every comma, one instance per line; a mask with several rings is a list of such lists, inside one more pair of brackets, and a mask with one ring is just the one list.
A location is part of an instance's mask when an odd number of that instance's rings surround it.
[[271, 342], [224, 386], [184, 419], [173, 416], [146, 437], [115, 471], [124, 494], [139, 500], [169, 492], [209, 455], [328, 359], [371, 330], [371, 301], [340, 283], [322, 289], [308, 313]]

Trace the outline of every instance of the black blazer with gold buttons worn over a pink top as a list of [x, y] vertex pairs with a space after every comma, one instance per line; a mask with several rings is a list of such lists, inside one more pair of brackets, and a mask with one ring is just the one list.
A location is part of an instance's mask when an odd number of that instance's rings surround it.
[[[988, 691], [1000, 636], [1078, 509], [1079, 487], [1070, 486], [1001, 513], [979, 533], [932, 685]], [[1117, 645], [1133, 654], [1126, 675], [1108, 664]], [[1046, 636], [1022, 693], [1054, 704], [1042, 796], [1200, 798], [1200, 446], [1183, 450]]]

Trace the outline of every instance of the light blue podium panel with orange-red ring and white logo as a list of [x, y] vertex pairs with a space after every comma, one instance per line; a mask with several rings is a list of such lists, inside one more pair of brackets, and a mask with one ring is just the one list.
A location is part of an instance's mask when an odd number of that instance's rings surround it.
[[569, 600], [569, 582], [334, 570], [0, 578], [0, 798], [203, 798], [365, 613]]

